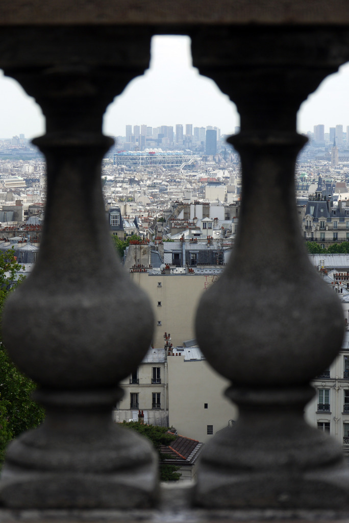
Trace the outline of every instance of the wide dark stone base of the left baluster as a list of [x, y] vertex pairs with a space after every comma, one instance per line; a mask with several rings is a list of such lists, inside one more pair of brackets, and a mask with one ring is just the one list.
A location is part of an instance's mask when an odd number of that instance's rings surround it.
[[[90, 391], [85, 402], [81, 392], [50, 396], [43, 424], [8, 447], [0, 503], [11, 508], [153, 506], [156, 453], [147, 440], [112, 422], [110, 408], [102, 405], [108, 393], [96, 393], [95, 402]], [[73, 396], [75, 405], [69, 408], [53, 405], [60, 397], [63, 404], [73, 402]]]

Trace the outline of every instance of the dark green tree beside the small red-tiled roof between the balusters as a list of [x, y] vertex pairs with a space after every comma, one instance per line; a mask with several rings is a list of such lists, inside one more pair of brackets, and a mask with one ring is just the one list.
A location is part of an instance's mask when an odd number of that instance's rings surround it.
[[169, 427], [157, 427], [156, 425], [145, 425], [139, 422], [123, 422], [123, 426], [136, 430], [142, 436], [145, 436], [152, 441], [155, 449], [159, 454], [160, 462], [160, 480], [161, 481], [177, 481], [181, 474], [177, 472], [180, 467], [166, 463], [166, 459], [170, 458], [168, 454], [160, 452], [161, 445], [169, 445], [177, 436], [170, 434]]

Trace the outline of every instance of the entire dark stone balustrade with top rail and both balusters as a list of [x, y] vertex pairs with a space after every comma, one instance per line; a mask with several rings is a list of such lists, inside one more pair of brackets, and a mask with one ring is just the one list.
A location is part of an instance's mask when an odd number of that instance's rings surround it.
[[8, 448], [3, 519], [13, 509], [70, 509], [77, 519], [94, 509], [98, 519], [98, 510], [124, 509], [124, 518], [141, 508], [144, 517], [158, 503], [153, 450], [111, 420], [118, 383], [147, 351], [153, 316], [111, 245], [100, 163], [112, 145], [101, 132], [104, 110], [148, 67], [159, 32], [191, 37], [194, 66], [241, 117], [240, 134], [229, 139], [243, 180], [235, 249], [196, 322], [204, 355], [232, 383], [227, 395], [239, 419], [204, 448], [183, 498], [205, 508], [199, 519], [208, 509], [349, 508], [341, 447], [303, 418], [309, 382], [340, 350], [344, 328], [338, 298], [304, 249], [294, 167], [306, 143], [297, 110], [349, 60], [349, 12], [342, 0], [311, 5], [2, 3], [0, 67], [46, 117], [34, 143], [48, 176], [41, 255], [3, 313], [6, 347], [39, 383], [46, 418]]

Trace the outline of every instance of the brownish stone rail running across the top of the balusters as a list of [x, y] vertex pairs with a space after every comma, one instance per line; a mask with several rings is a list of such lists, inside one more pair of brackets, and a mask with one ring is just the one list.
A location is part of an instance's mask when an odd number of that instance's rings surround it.
[[346, 0], [2, 0], [1, 25], [346, 25]]

